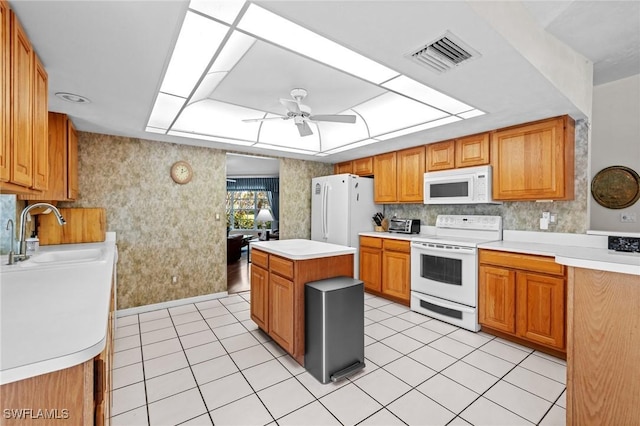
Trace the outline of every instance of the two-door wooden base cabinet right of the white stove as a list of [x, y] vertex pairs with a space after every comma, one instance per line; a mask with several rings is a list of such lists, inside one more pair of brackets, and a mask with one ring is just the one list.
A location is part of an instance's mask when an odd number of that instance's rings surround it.
[[564, 357], [566, 273], [553, 257], [480, 250], [479, 322], [484, 331]]

